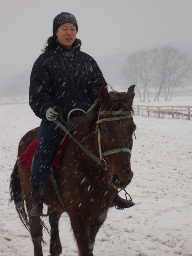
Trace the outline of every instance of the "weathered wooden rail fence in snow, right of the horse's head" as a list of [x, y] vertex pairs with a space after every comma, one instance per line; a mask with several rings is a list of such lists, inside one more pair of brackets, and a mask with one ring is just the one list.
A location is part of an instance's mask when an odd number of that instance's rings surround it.
[[[133, 105], [136, 115], [157, 118], [177, 118], [192, 120], [192, 106], [144, 106]], [[191, 113], [191, 114], [190, 114]]]

